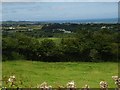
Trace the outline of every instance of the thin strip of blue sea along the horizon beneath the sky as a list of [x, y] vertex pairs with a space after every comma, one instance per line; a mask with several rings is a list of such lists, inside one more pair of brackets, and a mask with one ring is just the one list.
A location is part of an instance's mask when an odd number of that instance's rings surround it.
[[118, 23], [118, 18], [45, 20], [45, 21], [2, 21], [2, 24], [36, 24], [36, 23]]

